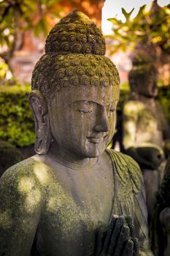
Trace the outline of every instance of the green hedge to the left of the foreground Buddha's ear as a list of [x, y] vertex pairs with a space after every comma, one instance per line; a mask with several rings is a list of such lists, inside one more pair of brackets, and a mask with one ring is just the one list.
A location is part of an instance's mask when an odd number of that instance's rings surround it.
[[35, 140], [30, 91], [29, 84], [0, 87], [0, 138], [15, 146], [28, 146]]

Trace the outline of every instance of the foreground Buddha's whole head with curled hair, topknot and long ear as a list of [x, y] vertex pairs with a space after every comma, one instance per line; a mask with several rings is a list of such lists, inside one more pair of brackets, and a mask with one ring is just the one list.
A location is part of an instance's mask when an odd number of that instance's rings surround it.
[[98, 157], [112, 140], [119, 75], [104, 53], [101, 32], [82, 12], [50, 31], [32, 75], [36, 153], [46, 154], [53, 141], [76, 157]]

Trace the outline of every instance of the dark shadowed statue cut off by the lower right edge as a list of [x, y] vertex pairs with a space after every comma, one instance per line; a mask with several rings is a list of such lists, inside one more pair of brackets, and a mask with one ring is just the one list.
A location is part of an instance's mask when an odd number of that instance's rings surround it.
[[170, 158], [158, 191], [151, 225], [152, 250], [155, 256], [170, 255]]

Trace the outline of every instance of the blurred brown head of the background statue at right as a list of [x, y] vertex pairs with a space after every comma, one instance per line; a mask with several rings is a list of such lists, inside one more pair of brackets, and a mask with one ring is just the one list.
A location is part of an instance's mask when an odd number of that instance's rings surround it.
[[132, 64], [133, 67], [128, 74], [131, 92], [145, 97], [155, 97], [158, 94], [158, 72], [151, 59], [144, 52], [139, 52]]

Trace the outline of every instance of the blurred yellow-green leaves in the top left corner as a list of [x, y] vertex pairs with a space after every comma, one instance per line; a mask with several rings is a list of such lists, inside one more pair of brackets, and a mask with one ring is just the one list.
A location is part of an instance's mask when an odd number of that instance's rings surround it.
[[33, 29], [39, 36], [49, 33], [49, 20], [61, 18], [55, 4], [61, 0], [1, 0], [0, 1], [0, 45], [14, 50], [18, 31]]

